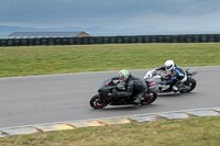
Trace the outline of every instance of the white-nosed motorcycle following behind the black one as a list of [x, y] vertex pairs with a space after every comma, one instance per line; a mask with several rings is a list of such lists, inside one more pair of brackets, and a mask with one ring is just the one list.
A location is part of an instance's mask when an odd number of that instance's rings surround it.
[[[180, 93], [193, 91], [197, 85], [197, 81], [193, 78], [193, 76], [198, 74], [199, 71], [197, 69], [187, 69], [185, 71], [187, 75], [187, 80], [179, 89]], [[158, 85], [158, 87], [156, 88], [158, 93], [173, 92], [172, 88], [177, 81], [177, 78], [173, 78], [172, 74], [165, 70], [148, 70], [144, 76], [144, 79], [148, 80], [151, 78], [157, 79], [157, 81], [154, 83]]]

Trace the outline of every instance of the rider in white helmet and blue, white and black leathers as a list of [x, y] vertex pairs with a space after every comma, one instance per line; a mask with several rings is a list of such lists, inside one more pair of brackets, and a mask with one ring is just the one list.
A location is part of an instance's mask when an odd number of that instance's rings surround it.
[[166, 70], [172, 74], [172, 79], [167, 80], [167, 83], [172, 82], [174, 79], [177, 79], [172, 88], [174, 92], [179, 91], [183, 83], [187, 80], [186, 72], [179, 66], [175, 65], [173, 60], [166, 60], [163, 67], [155, 68], [155, 70]]

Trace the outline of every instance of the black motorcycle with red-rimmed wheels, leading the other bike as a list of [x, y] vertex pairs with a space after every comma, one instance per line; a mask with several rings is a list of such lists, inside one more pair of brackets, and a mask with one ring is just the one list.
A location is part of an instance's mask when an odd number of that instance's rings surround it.
[[[157, 79], [145, 79], [147, 86], [147, 92], [141, 99], [141, 104], [146, 105], [153, 103], [157, 98], [157, 91], [155, 88], [157, 83], [154, 81]], [[128, 105], [133, 104], [135, 100], [135, 92], [131, 97], [118, 98], [109, 94], [114, 94], [118, 91], [124, 91], [124, 83], [119, 80], [106, 80], [102, 82], [101, 87], [98, 89], [98, 93], [90, 99], [90, 105], [94, 109], [102, 109], [110, 105]]]

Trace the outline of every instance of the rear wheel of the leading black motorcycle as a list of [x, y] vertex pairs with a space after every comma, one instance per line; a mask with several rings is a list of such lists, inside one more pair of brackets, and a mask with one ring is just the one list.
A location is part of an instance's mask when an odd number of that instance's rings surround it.
[[141, 104], [147, 105], [153, 103], [157, 99], [156, 90], [151, 90], [151, 92], [145, 93], [144, 98], [142, 98]]

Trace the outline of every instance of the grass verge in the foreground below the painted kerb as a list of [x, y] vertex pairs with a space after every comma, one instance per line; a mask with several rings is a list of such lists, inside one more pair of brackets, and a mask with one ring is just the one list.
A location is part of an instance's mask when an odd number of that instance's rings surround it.
[[219, 146], [220, 116], [7, 136], [6, 146]]

